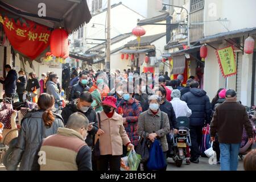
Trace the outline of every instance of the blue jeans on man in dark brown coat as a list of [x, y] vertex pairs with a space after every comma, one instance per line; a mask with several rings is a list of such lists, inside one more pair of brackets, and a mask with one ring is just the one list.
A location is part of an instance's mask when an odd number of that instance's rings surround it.
[[237, 171], [240, 143], [220, 143], [221, 171]]

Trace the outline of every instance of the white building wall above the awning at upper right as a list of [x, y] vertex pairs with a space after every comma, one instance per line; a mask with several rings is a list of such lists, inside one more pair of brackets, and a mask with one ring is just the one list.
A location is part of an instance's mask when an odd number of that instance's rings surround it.
[[[255, 7], [255, 0], [205, 0], [204, 35], [256, 27]], [[227, 21], [207, 22], [219, 18]]]

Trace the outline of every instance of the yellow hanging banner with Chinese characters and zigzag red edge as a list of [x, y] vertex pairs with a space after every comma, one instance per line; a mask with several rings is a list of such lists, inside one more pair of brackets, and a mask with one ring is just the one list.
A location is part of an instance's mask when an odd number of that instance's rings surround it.
[[216, 55], [224, 78], [237, 74], [236, 56], [232, 46], [217, 49]]

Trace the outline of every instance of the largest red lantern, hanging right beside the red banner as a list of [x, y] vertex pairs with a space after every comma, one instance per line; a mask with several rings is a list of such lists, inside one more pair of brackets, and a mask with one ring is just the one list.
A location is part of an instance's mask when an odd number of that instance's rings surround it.
[[56, 57], [68, 57], [69, 42], [68, 33], [63, 28], [56, 28], [51, 32], [50, 48]]

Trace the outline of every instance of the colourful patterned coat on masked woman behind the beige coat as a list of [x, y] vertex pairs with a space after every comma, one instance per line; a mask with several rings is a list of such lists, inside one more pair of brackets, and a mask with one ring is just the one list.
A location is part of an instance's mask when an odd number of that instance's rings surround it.
[[129, 101], [122, 99], [118, 105], [118, 114], [126, 118], [125, 126], [126, 133], [128, 134], [131, 143], [137, 146], [139, 142], [139, 135], [137, 133], [139, 115], [142, 113], [141, 102], [132, 98]]

